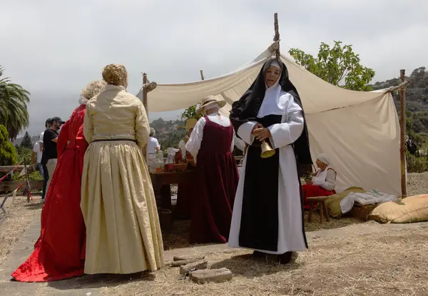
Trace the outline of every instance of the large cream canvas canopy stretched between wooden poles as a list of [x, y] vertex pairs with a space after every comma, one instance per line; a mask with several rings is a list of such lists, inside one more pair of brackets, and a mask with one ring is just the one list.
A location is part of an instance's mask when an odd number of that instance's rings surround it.
[[[208, 95], [228, 102], [228, 115], [270, 58], [269, 50], [233, 73], [191, 83], [158, 84], [148, 93], [148, 111], [174, 111], [198, 103]], [[333, 86], [281, 56], [290, 81], [302, 100], [310, 136], [312, 159], [327, 153], [337, 171], [337, 190], [360, 186], [401, 195], [399, 122], [389, 91], [350, 91]], [[142, 92], [137, 95], [142, 98]]]

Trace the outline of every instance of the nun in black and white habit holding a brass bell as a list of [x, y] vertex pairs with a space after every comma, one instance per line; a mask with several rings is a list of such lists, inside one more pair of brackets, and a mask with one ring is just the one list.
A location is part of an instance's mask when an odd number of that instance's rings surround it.
[[[230, 247], [278, 255], [290, 262], [307, 249], [298, 167], [312, 164], [305, 114], [287, 68], [275, 58], [230, 111], [237, 135], [248, 143], [230, 227]], [[267, 141], [275, 155], [261, 158]]]

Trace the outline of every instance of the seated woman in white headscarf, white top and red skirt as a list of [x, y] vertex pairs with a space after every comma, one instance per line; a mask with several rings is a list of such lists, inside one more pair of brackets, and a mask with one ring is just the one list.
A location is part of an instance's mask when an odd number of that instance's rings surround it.
[[305, 205], [303, 208], [309, 208], [307, 198], [315, 196], [329, 196], [335, 194], [336, 186], [336, 171], [330, 168], [330, 158], [327, 154], [320, 153], [317, 155], [317, 175], [312, 180], [305, 180], [305, 185], [302, 185], [303, 197]]

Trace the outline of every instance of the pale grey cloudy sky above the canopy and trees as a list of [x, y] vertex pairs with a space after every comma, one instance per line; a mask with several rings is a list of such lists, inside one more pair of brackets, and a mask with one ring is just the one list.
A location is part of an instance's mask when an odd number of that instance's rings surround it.
[[[0, 65], [31, 92], [29, 133], [70, 116], [81, 88], [108, 63], [128, 68], [131, 93], [233, 71], [270, 45], [278, 13], [282, 52], [316, 54], [320, 42], [352, 44], [374, 81], [428, 66], [424, 0], [14, 0], [0, 9]], [[151, 113], [175, 119], [178, 112]]]

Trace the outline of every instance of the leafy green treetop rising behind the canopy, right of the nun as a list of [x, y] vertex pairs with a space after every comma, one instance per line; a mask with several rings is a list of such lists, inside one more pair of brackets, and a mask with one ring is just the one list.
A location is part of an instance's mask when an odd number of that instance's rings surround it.
[[361, 65], [360, 56], [354, 53], [352, 45], [342, 46], [342, 41], [335, 41], [330, 47], [322, 42], [317, 58], [301, 49], [293, 48], [288, 52], [296, 63], [328, 83], [353, 91], [372, 91], [367, 84], [372, 81], [374, 71]]

